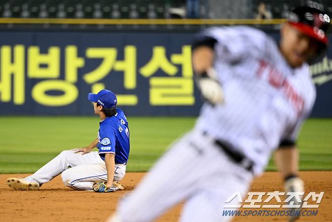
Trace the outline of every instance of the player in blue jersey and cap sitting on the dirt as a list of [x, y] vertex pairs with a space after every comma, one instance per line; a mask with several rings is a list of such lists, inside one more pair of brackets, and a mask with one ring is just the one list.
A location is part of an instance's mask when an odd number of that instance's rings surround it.
[[[126, 173], [129, 156], [129, 128], [123, 111], [116, 107], [117, 97], [109, 90], [89, 94], [94, 113], [99, 115], [97, 138], [87, 147], [62, 151], [30, 176], [9, 178], [14, 190], [38, 190], [61, 173], [67, 187], [75, 190], [113, 192], [123, 190], [119, 183]], [[91, 152], [97, 147], [99, 151]]]

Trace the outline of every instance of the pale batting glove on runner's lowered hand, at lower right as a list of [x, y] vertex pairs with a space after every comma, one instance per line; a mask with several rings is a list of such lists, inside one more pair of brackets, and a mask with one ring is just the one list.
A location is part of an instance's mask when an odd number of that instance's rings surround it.
[[[296, 193], [302, 193], [302, 196], [304, 194], [304, 182], [299, 177], [291, 177], [289, 179], [286, 179], [285, 181], [285, 190], [286, 192], [296, 192]], [[300, 197], [301, 198], [301, 197]], [[295, 197], [293, 197], [290, 201], [294, 201], [294, 205], [300, 205], [299, 208], [290, 208], [291, 210], [291, 216], [289, 217], [288, 221], [293, 222], [299, 218], [298, 214], [301, 211], [302, 208], [302, 199], [299, 202]]]

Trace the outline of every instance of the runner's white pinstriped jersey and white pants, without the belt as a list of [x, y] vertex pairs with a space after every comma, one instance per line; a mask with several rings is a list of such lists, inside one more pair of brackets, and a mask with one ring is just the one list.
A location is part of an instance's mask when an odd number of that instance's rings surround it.
[[[205, 104], [194, 129], [120, 202], [117, 214], [123, 222], [151, 221], [181, 200], [186, 200], [181, 221], [230, 220], [222, 216], [225, 200], [234, 192], [246, 194], [271, 152], [282, 141], [296, 141], [312, 109], [315, 88], [308, 65], [291, 68], [265, 33], [228, 27], [205, 35], [217, 40], [214, 68], [225, 104]], [[253, 173], [216, 140], [253, 161]]]

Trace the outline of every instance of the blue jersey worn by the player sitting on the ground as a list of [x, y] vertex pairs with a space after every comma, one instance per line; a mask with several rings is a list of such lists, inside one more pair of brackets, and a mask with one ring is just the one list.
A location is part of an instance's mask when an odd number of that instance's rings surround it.
[[106, 153], [113, 153], [117, 164], [128, 161], [129, 128], [121, 109], [117, 108], [116, 116], [107, 117], [99, 122], [98, 142], [97, 148], [101, 159], [105, 160]]

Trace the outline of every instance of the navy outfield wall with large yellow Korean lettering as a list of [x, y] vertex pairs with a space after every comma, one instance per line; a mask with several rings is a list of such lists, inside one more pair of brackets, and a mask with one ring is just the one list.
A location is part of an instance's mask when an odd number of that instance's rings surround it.
[[[114, 91], [128, 115], [197, 115], [193, 34], [3, 31], [0, 115], [89, 115], [87, 94], [101, 88]], [[312, 116], [332, 117], [332, 51], [311, 69]]]

